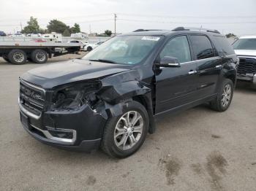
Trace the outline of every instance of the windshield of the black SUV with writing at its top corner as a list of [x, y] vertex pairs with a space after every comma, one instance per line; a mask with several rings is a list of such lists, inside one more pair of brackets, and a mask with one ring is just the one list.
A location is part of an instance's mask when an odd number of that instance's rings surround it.
[[160, 36], [116, 36], [84, 56], [87, 61], [137, 64], [153, 50]]

